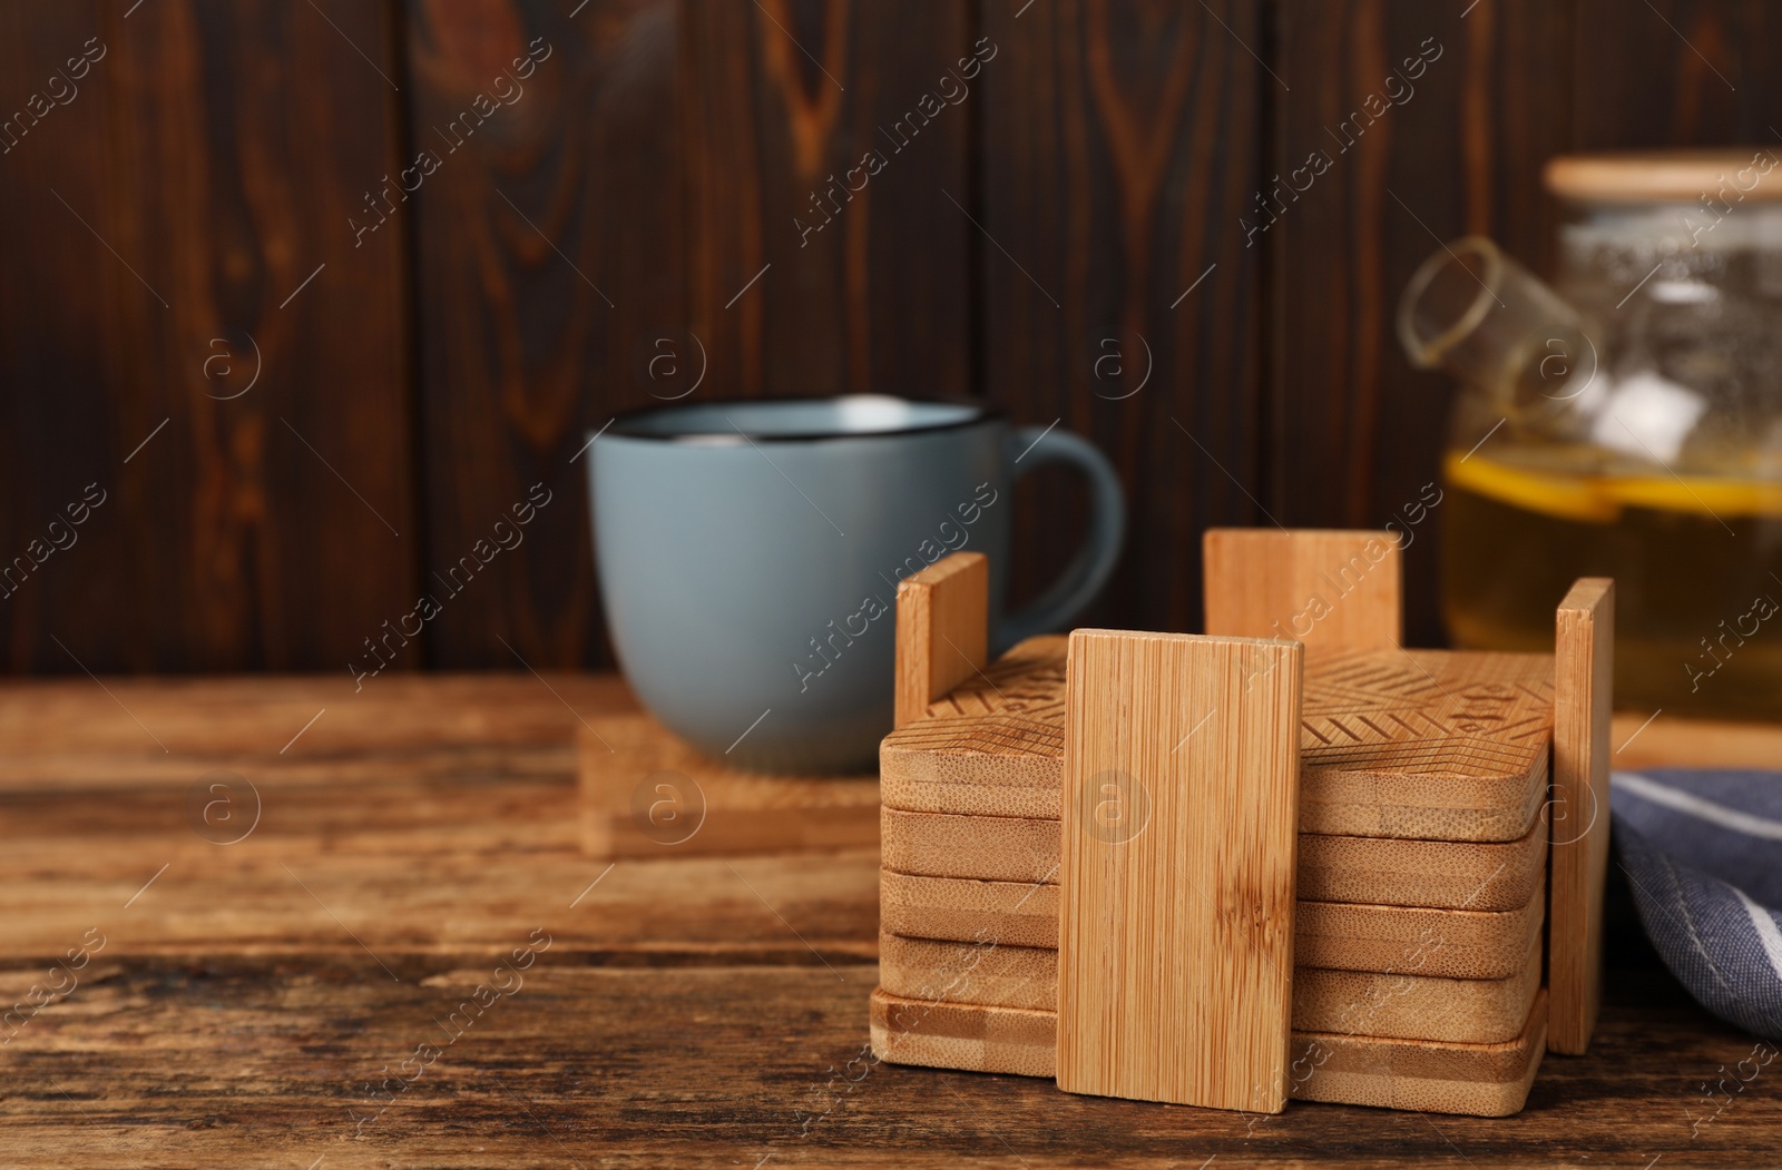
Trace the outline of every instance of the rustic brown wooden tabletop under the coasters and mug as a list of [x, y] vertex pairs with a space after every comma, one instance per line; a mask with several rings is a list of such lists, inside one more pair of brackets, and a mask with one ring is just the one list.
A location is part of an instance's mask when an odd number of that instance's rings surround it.
[[[579, 855], [572, 732], [629, 707], [609, 677], [0, 687], [0, 1165], [1782, 1158], [1782, 1065], [1734, 1092], [1752, 1038], [1625, 919], [1591, 1054], [1506, 1120], [871, 1065], [875, 851]], [[1661, 718], [1616, 764], [1666, 759], [1782, 762], [1782, 732]]]

